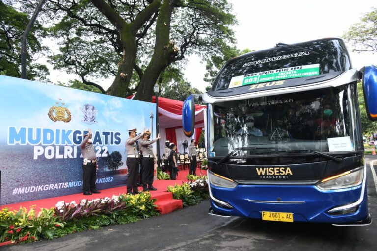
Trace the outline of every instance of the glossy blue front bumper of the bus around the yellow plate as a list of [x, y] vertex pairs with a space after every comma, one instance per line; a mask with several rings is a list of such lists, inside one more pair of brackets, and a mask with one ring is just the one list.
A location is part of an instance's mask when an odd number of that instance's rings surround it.
[[[262, 219], [262, 211], [293, 213], [294, 222], [368, 225], [367, 189], [321, 190], [315, 185], [210, 185], [211, 212], [221, 216]], [[334, 210], [335, 209], [335, 210]]]

